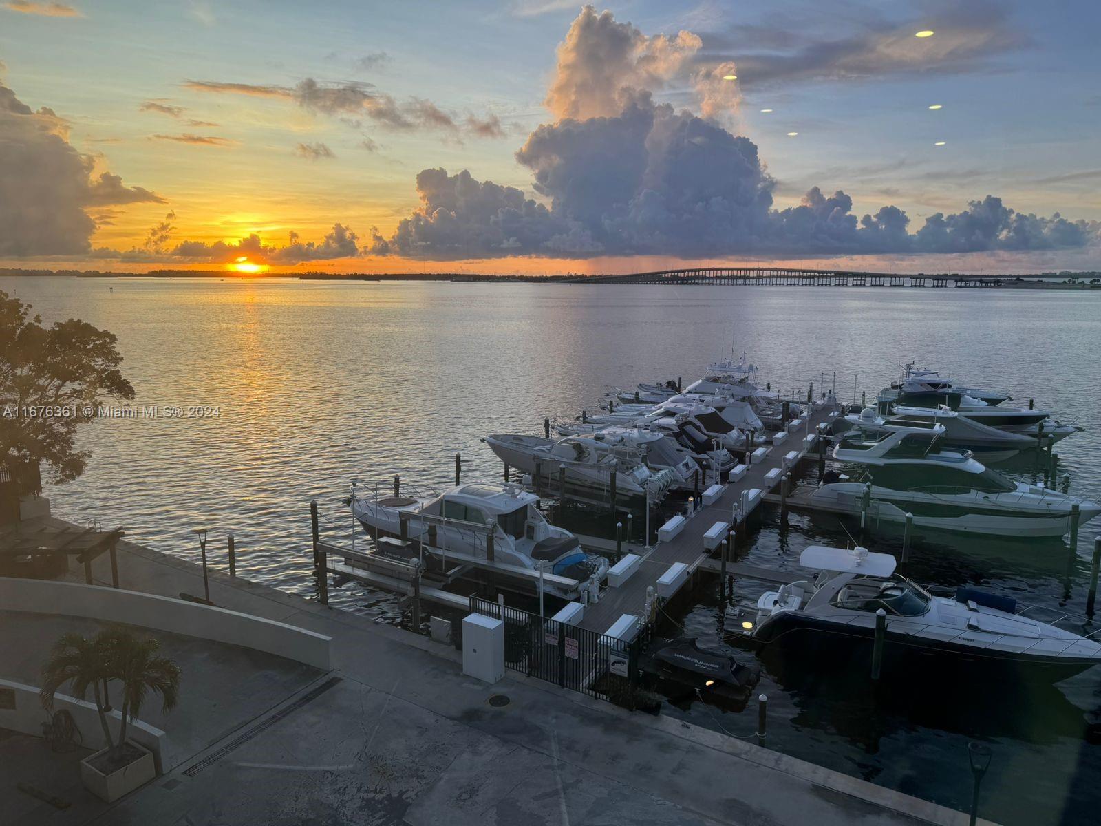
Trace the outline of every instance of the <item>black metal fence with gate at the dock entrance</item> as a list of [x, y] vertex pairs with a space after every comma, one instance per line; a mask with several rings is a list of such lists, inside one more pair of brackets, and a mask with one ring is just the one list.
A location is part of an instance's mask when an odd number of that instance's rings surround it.
[[609, 676], [636, 672], [639, 638], [624, 642], [475, 596], [470, 610], [504, 621], [504, 664], [522, 674], [607, 698]]

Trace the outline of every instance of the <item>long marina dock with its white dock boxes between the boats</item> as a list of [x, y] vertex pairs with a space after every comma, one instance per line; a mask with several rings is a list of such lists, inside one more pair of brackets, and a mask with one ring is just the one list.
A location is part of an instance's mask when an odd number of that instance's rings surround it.
[[[635, 616], [640, 622], [645, 621], [643, 612], [647, 594], [668, 598], [684, 587], [712, 550], [721, 547], [722, 540], [733, 534], [739, 523], [744, 522], [761, 504], [764, 496], [781, 487], [784, 474], [816, 446], [818, 425], [836, 415], [835, 407], [815, 405], [804, 417], [789, 424], [787, 435], [780, 444], [749, 453], [751, 464], [737, 472], [738, 478], [731, 478], [713, 501], [697, 508], [687, 519], [675, 517], [674, 520], [683, 520], [683, 523], [677, 523], [677, 533], [646, 551], [625, 582], [618, 586], [610, 582], [600, 601], [585, 607], [579, 626], [601, 634], [623, 633], [630, 637], [630, 629], [637, 628], [639, 623], [630, 620], [621, 623], [621, 619]], [[724, 525], [718, 542], [715, 542], [713, 534], [706, 536], [716, 523]], [[706, 540], [712, 547], [706, 546]], [[633, 561], [630, 564], [634, 564]]]

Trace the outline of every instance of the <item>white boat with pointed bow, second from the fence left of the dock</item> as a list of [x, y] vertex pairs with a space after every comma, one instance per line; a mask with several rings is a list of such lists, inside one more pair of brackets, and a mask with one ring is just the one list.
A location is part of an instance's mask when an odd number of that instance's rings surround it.
[[482, 442], [509, 467], [530, 475], [536, 485], [558, 483], [565, 468], [566, 485], [575, 498], [603, 502], [611, 494], [615, 472], [615, 499], [648, 499], [659, 502], [676, 485], [669, 469], [652, 470], [636, 447], [607, 445], [591, 436], [543, 438], [517, 433], [497, 433]]

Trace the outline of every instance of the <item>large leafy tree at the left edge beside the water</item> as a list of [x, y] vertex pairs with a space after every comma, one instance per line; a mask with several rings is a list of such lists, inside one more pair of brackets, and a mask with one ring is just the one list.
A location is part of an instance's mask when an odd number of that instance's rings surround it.
[[133, 399], [113, 334], [69, 318], [52, 327], [31, 306], [0, 291], [0, 463], [46, 463], [55, 482], [87, 464], [77, 427], [106, 398]]

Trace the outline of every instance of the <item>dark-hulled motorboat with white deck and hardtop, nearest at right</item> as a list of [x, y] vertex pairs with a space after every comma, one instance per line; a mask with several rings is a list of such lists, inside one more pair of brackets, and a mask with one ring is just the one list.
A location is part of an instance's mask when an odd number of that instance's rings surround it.
[[[756, 604], [751, 635], [830, 654], [857, 649], [871, 659], [876, 612], [886, 617], [885, 674], [907, 674], [923, 655], [982, 675], [1058, 682], [1101, 664], [1101, 643], [1016, 611], [1012, 599], [960, 588], [953, 597], [894, 573], [890, 554], [811, 545], [799, 566], [818, 572], [766, 591]], [[1028, 610], [1028, 609], [1026, 609]], [[922, 667], [927, 667], [924, 664]]]

